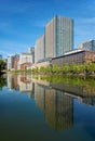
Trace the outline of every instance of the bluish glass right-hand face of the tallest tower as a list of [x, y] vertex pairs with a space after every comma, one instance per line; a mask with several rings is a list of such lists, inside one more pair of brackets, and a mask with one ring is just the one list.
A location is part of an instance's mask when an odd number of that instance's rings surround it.
[[56, 56], [73, 49], [73, 21], [56, 16]]

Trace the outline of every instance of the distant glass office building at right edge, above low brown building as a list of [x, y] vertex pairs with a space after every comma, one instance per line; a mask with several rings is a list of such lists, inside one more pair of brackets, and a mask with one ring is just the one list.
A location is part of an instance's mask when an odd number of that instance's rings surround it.
[[86, 40], [78, 46], [79, 49], [95, 51], [95, 40]]

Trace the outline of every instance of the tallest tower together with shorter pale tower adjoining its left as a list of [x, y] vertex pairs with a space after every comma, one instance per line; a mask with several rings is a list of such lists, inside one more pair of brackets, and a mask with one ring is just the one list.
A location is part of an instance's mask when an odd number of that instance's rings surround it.
[[64, 55], [73, 49], [73, 20], [55, 16], [44, 27], [35, 47], [35, 63]]

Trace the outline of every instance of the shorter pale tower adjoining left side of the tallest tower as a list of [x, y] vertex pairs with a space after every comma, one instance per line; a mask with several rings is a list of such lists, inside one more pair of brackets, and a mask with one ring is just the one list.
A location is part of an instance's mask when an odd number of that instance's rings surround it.
[[44, 35], [42, 35], [40, 38], [36, 41], [35, 47], [35, 62], [41, 61], [44, 59]]

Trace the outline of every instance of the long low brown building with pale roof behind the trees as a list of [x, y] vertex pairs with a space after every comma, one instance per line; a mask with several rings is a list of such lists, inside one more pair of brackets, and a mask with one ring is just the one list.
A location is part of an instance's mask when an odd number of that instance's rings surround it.
[[65, 53], [65, 55], [52, 59], [52, 65], [62, 66], [65, 64], [82, 64], [82, 63], [95, 63], [95, 52], [86, 50], [72, 50]]

